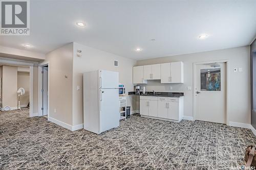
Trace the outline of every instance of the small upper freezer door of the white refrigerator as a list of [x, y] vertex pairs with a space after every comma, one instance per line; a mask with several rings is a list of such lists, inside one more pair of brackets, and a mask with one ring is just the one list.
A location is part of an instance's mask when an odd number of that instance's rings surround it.
[[119, 72], [99, 70], [99, 88], [118, 88]]

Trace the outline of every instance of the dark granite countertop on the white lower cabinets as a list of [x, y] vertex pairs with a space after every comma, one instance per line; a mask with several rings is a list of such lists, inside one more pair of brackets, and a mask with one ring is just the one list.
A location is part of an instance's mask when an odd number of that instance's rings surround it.
[[180, 98], [184, 96], [184, 93], [180, 92], [156, 92], [156, 94], [153, 94], [152, 91], [146, 91], [145, 94], [142, 94], [142, 91], [140, 94], [136, 94], [135, 91], [128, 92], [128, 95], [141, 95], [141, 96], [161, 96], [161, 97], [168, 97], [168, 98]]

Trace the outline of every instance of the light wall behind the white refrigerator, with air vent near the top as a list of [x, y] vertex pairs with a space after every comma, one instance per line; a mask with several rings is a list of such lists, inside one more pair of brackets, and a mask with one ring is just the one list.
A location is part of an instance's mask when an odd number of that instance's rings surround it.
[[[77, 50], [82, 50], [82, 57], [77, 57]], [[124, 84], [125, 90], [133, 91], [133, 66], [136, 61], [127, 59], [115, 54], [103, 52], [89, 46], [74, 43], [73, 59], [73, 125], [83, 123], [83, 90], [82, 90], [82, 73], [97, 69], [105, 69], [119, 72], [119, 82]], [[118, 67], [114, 66], [114, 60], [119, 63]], [[80, 90], [76, 87], [80, 86]], [[127, 106], [131, 106], [131, 111], [135, 110], [133, 96], [127, 97]], [[134, 103], [133, 103], [134, 102]]]

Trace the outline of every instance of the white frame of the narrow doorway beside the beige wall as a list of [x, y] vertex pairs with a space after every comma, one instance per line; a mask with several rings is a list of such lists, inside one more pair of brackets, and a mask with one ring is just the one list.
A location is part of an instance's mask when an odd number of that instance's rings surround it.
[[38, 64], [38, 116], [42, 116], [42, 93], [41, 93], [41, 89], [42, 89], [42, 67], [48, 65], [48, 108], [47, 108], [47, 117], [49, 120], [49, 61], [45, 61], [45, 62], [41, 62]]

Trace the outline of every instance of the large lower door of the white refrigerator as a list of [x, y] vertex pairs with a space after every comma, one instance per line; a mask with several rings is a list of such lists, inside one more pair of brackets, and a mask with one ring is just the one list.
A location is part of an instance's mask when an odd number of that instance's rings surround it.
[[100, 133], [119, 126], [118, 89], [100, 89]]

